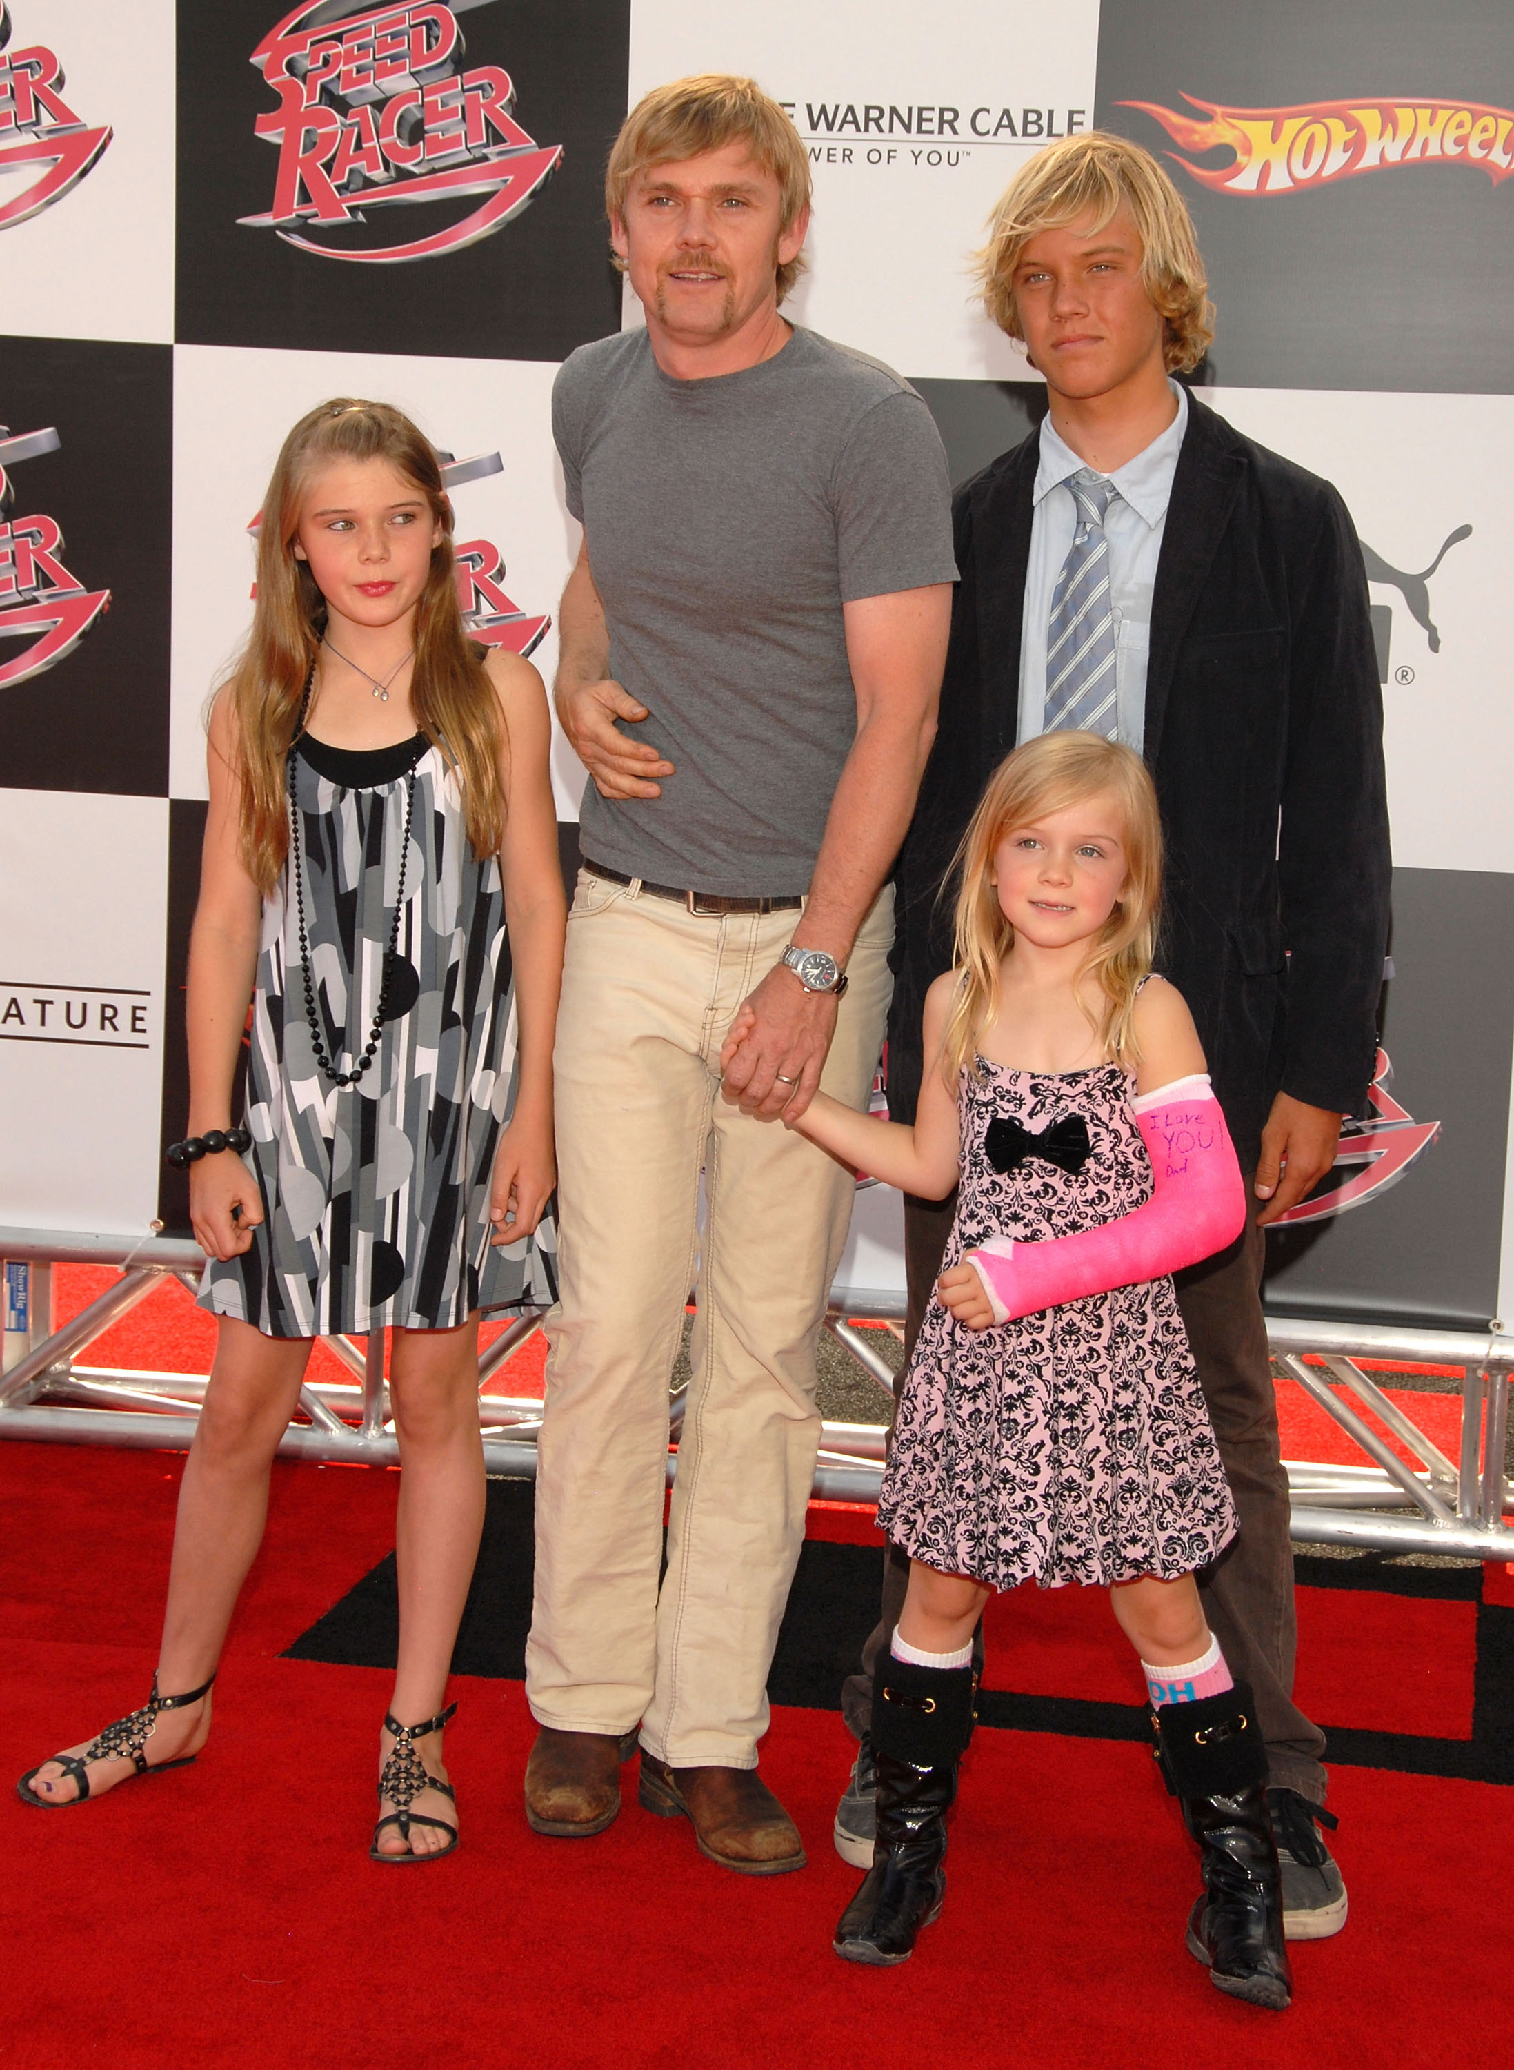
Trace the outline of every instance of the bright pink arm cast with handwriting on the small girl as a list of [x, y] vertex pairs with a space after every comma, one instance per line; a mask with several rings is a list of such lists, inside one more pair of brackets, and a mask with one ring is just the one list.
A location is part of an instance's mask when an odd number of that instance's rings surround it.
[[1131, 1101], [1152, 1159], [1152, 1196], [1129, 1215], [1044, 1244], [995, 1236], [966, 1252], [995, 1323], [1160, 1279], [1212, 1256], [1245, 1228], [1245, 1186], [1206, 1074]]

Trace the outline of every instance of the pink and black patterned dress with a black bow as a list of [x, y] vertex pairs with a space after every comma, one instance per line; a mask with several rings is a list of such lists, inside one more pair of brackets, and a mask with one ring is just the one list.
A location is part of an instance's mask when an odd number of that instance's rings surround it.
[[[1073, 1072], [978, 1060], [962, 1072], [962, 1190], [943, 1271], [991, 1236], [1073, 1236], [1140, 1207], [1152, 1172], [1119, 1064]], [[1026, 1149], [995, 1170], [997, 1118], [1032, 1138], [1088, 1130], [1082, 1165]], [[1003, 1134], [1001, 1128], [997, 1132]], [[997, 1149], [997, 1138], [995, 1138]], [[1005, 1161], [1003, 1151], [997, 1151]], [[912, 1559], [989, 1588], [1173, 1579], [1235, 1536], [1235, 1507], [1171, 1279], [1115, 1288], [997, 1329], [937, 1298], [894, 1424], [879, 1526]]]

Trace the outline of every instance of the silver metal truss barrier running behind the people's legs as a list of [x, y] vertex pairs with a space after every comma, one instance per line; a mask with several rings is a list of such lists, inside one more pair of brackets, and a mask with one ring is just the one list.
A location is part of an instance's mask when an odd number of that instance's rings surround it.
[[[89, 1366], [87, 1348], [122, 1314], [176, 1279], [190, 1294], [205, 1259], [188, 1240], [149, 1236], [74, 1236], [50, 1230], [2, 1230], [0, 1259], [27, 1265], [27, 1333], [6, 1333], [0, 1377], [0, 1439], [43, 1439], [60, 1445], [134, 1445], [186, 1451], [205, 1395], [203, 1374], [124, 1372]], [[120, 1279], [62, 1329], [52, 1327], [52, 1267], [116, 1265]], [[546, 1310], [511, 1321], [478, 1362], [478, 1416], [490, 1474], [536, 1472], [542, 1403], [496, 1393], [490, 1383], [513, 1352], [540, 1327]], [[877, 1383], [879, 1422], [827, 1422], [815, 1468], [815, 1495], [825, 1501], [871, 1503], [883, 1472], [894, 1368], [873, 1331], [856, 1317], [885, 1323], [900, 1335], [904, 1302], [894, 1292], [836, 1288], [825, 1327]], [[10, 1317], [8, 1317], [10, 1321]], [[300, 1391], [306, 1422], [292, 1422], [279, 1445], [287, 1459], [339, 1459], [397, 1466], [399, 1445], [385, 1385], [385, 1341], [374, 1331], [360, 1348], [350, 1337], [323, 1337], [352, 1374], [308, 1383]], [[1278, 1366], [1353, 1439], [1361, 1466], [1286, 1461], [1293, 1495], [1293, 1536], [1305, 1544], [1340, 1544], [1384, 1552], [1450, 1552], [1460, 1559], [1514, 1563], [1514, 1482], [1504, 1474], [1508, 1389], [1514, 1335], [1456, 1329], [1392, 1329], [1371, 1323], [1268, 1319]], [[1464, 1368], [1462, 1424], [1456, 1459], [1448, 1459], [1411, 1416], [1377, 1387], [1361, 1360]], [[668, 1401], [668, 1478], [683, 1428], [683, 1393]], [[1417, 1461], [1406, 1466], [1386, 1443], [1390, 1430]]]

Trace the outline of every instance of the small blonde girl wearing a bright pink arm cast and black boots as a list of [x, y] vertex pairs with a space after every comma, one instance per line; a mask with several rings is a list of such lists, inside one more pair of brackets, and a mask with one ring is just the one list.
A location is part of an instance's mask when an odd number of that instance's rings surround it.
[[960, 1186], [879, 1501], [910, 1586], [873, 1704], [873, 1867], [836, 1952], [904, 1962], [941, 1911], [989, 1594], [1100, 1584], [1200, 1842], [1187, 1946], [1222, 1991], [1280, 2008], [1262, 1737], [1193, 1579], [1235, 1509], [1169, 1277], [1241, 1234], [1245, 1194], [1189, 1010], [1152, 975], [1152, 780], [1098, 735], [1042, 735], [999, 766], [958, 861], [914, 1126], [825, 1095], [794, 1124], [906, 1192]]

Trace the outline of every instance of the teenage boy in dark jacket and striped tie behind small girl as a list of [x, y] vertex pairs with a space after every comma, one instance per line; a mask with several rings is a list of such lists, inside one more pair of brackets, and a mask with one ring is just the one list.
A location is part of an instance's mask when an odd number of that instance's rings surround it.
[[[953, 503], [962, 582], [898, 876], [889, 1110], [914, 1114], [920, 1004], [951, 960], [951, 903], [937, 892], [989, 772], [1059, 724], [1136, 747], [1167, 836], [1158, 960], [1193, 1010], [1253, 1192], [1239, 1242], [1179, 1275], [1241, 1517], [1202, 1588], [1231, 1670], [1255, 1691], [1284, 1927], [1318, 1940], [1344, 1925], [1346, 1892], [1318, 1832], [1336, 1824], [1322, 1809], [1324, 1735], [1293, 1702], [1289, 1484], [1262, 1261], [1266, 1225], [1330, 1170], [1375, 1056], [1390, 859], [1361, 549], [1328, 482], [1173, 381], [1204, 356], [1212, 308], [1187, 209], [1146, 151], [1090, 132], [1032, 157], [995, 211], [980, 282], [1051, 408]], [[1084, 582], [1073, 638], [1057, 596], [1065, 567]], [[910, 1337], [951, 1207], [906, 1201]], [[883, 1623], [844, 1691], [858, 1739], [904, 1579], [891, 1555]], [[860, 1867], [873, 1859], [871, 1782], [862, 1739], [836, 1820], [840, 1853]]]

